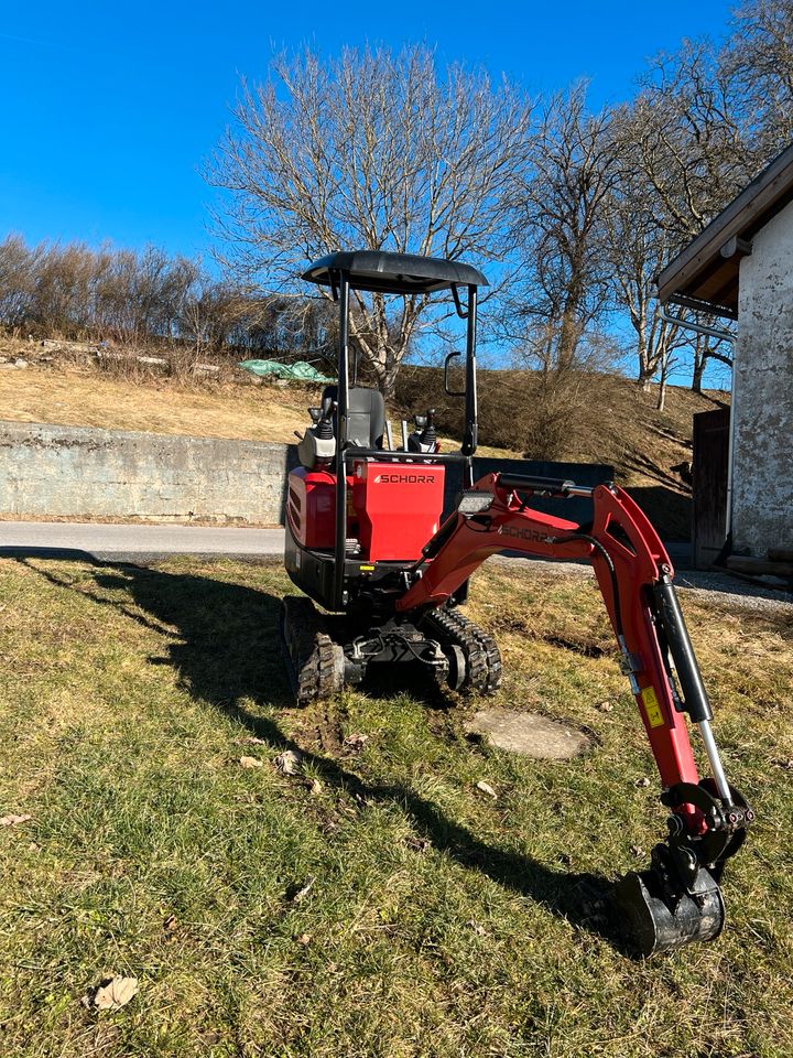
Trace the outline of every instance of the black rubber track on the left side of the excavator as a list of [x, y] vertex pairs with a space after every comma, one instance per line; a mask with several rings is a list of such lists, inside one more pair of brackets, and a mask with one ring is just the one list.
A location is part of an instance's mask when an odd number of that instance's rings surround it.
[[281, 603], [281, 638], [292, 692], [298, 705], [332, 698], [341, 687], [337, 651], [314, 603], [286, 595]]

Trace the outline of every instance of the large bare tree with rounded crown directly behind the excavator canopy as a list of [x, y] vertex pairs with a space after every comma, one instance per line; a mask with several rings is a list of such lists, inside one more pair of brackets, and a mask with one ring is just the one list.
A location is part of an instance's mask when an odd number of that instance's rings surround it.
[[[360, 248], [502, 261], [531, 105], [423, 45], [280, 55], [248, 87], [208, 174], [225, 188], [226, 262], [249, 290], [293, 292], [305, 263]], [[359, 295], [351, 337], [382, 392], [430, 320], [425, 298]]]

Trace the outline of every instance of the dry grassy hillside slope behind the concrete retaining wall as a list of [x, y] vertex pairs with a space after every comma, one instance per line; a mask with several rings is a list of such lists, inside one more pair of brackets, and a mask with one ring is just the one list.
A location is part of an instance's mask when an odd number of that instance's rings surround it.
[[[20, 355], [26, 367], [12, 366]], [[236, 369], [224, 381], [184, 381], [146, 371], [116, 377], [90, 363], [37, 360], [29, 346], [8, 341], [0, 341], [0, 356], [8, 358], [0, 365], [0, 419], [22, 422], [287, 443], [305, 428], [306, 407], [319, 396], [312, 389], [256, 385]], [[542, 408], [531, 376], [481, 371], [479, 393], [481, 454], [520, 458], [526, 438], [536, 445]], [[723, 406], [729, 395], [670, 387], [663, 412], [655, 410], [655, 398], [654, 391], [642, 392], [621, 376], [583, 378], [571, 404], [563, 401], [545, 423], [555, 445], [547, 455], [612, 465], [617, 481], [633, 490], [666, 536], [685, 539], [689, 489], [671, 467], [691, 458], [692, 417]], [[405, 367], [397, 404], [390, 409], [397, 433], [400, 418], [435, 407], [443, 446], [455, 446], [461, 401], [444, 395], [441, 371]]]

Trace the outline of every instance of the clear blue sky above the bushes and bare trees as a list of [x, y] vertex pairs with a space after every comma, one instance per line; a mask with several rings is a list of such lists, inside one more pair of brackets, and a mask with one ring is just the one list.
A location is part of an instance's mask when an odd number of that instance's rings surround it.
[[[110, 240], [203, 253], [214, 192], [202, 162], [239, 76], [273, 50], [423, 40], [532, 89], [591, 78], [591, 101], [630, 95], [648, 56], [719, 35], [731, 4], [0, 2], [0, 238]], [[334, 19], [334, 12], [337, 18]]]

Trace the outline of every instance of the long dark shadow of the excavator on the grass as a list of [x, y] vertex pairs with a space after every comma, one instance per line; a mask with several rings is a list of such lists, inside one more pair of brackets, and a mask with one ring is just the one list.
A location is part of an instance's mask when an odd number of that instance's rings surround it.
[[[278, 717], [267, 715], [273, 706], [294, 708], [278, 647], [279, 596], [194, 573], [96, 562], [79, 551], [42, 555], [40, 549], [28, 554], [18, 549], [14, 558], [51, 584], [79, 592], [98, 611], [111, 607], [162, 635], [164, 650], [151, 656], [150, 663], [172, 666], [194, 700], [240, 723], [273, 751], [298, 751], [327, 787], [345, 789], [361, 805], [399, 806], [422, 838], [459, 865], [481, 872], [576, 928], [601, 937], [622, 954], [631, 953], [620, 938], [618, 922], [608, 914], [613, 889], [608, 878], [554, 871], [530, 856], [489, 844], [434, 801], [401, 784], [368, 781], [352, 770], [352, 760], [294, 741]], [[40, 563], [42, 558], [70, 558], [84, 566], [86, 575], [74, 582]], [[416, 679], [413, 693], [422, 685], [431, 710], [446, 708], [448, 699], [428, 689], [426, 681], [422, 684]]]

